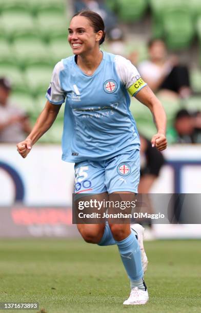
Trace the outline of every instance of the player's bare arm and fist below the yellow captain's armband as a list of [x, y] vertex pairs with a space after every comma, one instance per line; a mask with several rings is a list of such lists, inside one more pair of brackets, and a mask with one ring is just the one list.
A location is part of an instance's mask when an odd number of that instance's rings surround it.
[[167, 148], [166, 139], [166, 113], [163, 105], [156, 98], [149, 86], [143, 87], [136, 95], [135, 98], [146, 105], [153, 117], [156, 124], [157, 133], [152, 137], [152, 146], [156, 147], [159, 151]]

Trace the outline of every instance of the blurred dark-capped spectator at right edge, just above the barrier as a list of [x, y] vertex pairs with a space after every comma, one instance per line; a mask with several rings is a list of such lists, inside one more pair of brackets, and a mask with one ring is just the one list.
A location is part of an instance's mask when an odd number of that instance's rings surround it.
[[[197, 118], [193, 117], [186, 109], [179, 110], [175, 116], [174, 127], [171, 127], [167, 130], [167, 139], [168, 143], [201, 143], [200, 136], [200, 127], [201, 124], [195, 124], [196, 119], [200, 123], [200, 113], [197, 113]], [[198, 123], [198, 122], [196, 122]]]

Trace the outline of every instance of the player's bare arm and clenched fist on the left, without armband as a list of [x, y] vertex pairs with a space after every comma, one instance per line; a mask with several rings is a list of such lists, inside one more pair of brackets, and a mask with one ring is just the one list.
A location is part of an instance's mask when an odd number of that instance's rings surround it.
[[34, 143], [52, 126], [60, 108], [61, 105], [54, 105], [49, 101], [46, 102], [29, 136], [24, 141], [17, 144], [17, 151], [23, 158], [26, 158]]

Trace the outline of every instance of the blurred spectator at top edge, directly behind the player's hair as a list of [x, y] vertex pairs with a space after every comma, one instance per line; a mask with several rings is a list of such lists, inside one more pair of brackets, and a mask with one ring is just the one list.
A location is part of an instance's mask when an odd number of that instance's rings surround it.
[[91, 10], [98, 13], [104, 20], [107, 35], [111, 37], [110, 32], [116, 28], [117, 18], [112, 11], [106, 7], [104, 0], [76, 0], [73, 1], [74, 12], [77, 13], [82, 10]]

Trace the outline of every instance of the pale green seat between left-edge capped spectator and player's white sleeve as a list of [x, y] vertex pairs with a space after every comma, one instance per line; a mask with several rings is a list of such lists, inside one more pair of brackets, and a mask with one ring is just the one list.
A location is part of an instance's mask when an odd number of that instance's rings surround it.
[[38, 63], [28, 66], [25, 70], [25, 77], [31, 93], [46, 93], [52, 77], [53, 66], [45, 63]]

